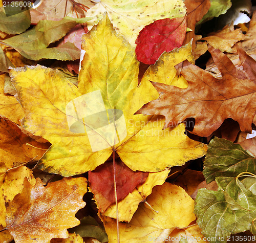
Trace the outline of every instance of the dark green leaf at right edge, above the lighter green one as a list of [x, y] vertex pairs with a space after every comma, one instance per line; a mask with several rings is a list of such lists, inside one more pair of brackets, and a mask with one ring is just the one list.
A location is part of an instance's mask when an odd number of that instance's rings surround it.
[[218, 176], [236, 177], [245, 171], [255, 174], [255, 163], [255, 157], [241, 145], [215, 138], [209, 143], [203, 174], [207, 183], [214, 181]]

